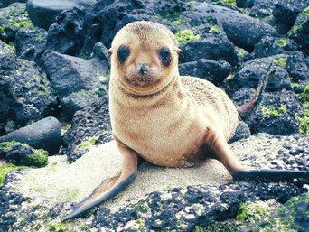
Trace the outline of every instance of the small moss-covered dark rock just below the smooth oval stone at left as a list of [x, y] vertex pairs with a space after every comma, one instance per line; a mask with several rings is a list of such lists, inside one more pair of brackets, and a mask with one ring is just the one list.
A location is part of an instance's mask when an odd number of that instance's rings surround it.
[[20, 165], [23, 166], [34, 166], [34, 167], [44, 167], [48, 163], [48, 153], [43, 150], [34, 150], [33, 154], [23, 156]]

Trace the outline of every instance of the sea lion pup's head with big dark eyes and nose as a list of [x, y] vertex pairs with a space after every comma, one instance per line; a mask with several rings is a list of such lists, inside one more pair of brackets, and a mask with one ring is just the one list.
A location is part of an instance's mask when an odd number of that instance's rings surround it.
[[111, 78], [134, 94], [153, 94], [178, 75], [178, 43], [164, 25], [128, 23], [117, 32], [109, 54]]

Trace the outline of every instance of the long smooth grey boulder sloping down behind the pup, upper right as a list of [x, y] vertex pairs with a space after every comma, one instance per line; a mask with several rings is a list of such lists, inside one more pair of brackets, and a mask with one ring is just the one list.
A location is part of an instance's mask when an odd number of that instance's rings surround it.
[[211, 16], [222, 23], [224, 32], [229, 40], [248, 51], [266, 35], [276, 36], [276, 31], [267, 23], [261, 23], [246, 14], [240, 14], [225, 7], [194, 3], [192, 8], [195, 14], [205, 17]]

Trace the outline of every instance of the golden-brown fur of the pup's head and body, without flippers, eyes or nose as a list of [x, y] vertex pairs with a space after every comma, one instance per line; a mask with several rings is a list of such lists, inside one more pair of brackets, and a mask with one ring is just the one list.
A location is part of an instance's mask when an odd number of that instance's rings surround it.
[[[201, 159], [220, 159], [213, 155], [211, 140], [226, 143], [238, 123], [229, 97], [206, 80], [179, 76], [179, 49], [163, 25], [129, 23], [115, 36], [112, 51], [120, 45], [129, 46], [131, 54], [124, 65], [116, 52], [111, 57], [110, 116], [117, 140], [161, 166], [188, 167]], [[157, 55], [162, 47], [172, 51], [167, 68]], [[126, 82], [139, 62], [151, 67], [147, 79], [157, 80], [146, 88]]]

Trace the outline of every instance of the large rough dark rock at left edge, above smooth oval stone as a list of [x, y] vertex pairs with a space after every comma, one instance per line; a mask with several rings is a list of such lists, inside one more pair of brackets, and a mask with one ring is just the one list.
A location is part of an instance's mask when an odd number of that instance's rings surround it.
[[1, 42], [0, 50], [1, 135], [9, 123], [23, 126], [51, 115], [57, 100], [45, 73], [33, 62], [15, 59], [2, 50]]

